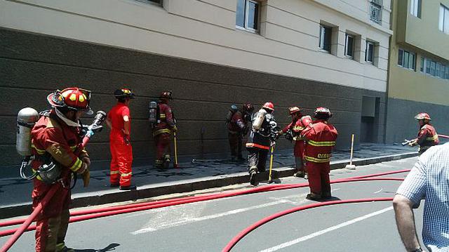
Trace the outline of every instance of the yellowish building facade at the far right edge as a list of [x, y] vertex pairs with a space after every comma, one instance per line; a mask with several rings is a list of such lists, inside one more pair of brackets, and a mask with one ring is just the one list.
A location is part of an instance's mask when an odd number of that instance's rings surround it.
[[449, 0], [392, 1], [386, 142], [414, 138], [428, 112], [449, 133]]

